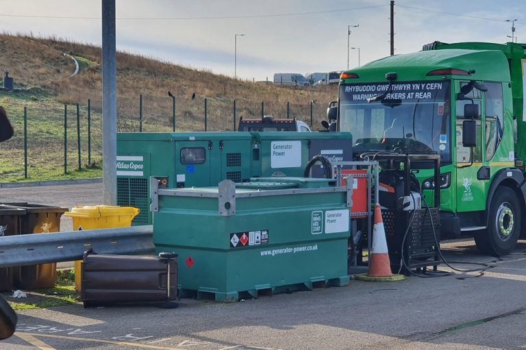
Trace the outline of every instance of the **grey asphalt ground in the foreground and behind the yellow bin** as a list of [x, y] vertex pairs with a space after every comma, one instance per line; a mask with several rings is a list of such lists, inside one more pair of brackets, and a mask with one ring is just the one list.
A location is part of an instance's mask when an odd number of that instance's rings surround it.
[[[101, 192], [101, 184], [0, 188], [0, 201], [71, 207], [99, 204]], [[492, 267], [402, 282], [351, 280], [237, 303], [181, 299], [171, 310], [26, 310], [0, 349], [525, 349], [526, 241], [502, 258], [479, 254], [469, 238], [444, 242], [442, 251], [448, 261]]]

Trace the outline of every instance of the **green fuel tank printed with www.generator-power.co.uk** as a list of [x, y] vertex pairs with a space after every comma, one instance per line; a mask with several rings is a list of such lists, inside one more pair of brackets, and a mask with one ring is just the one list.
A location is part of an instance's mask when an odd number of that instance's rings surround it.
[[345, 286], [351, 192], [334, 179], [181, 189], [151, 179], [153, 242], [158, 252], [179, 254], [181, 297], [238, 301]]

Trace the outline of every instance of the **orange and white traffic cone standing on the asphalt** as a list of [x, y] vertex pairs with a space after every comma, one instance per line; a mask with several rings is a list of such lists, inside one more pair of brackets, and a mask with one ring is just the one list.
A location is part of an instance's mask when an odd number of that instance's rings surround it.
[[403, 275], [394, 275], [391, 271], [389, 253], [387, 250], [386, 230], [381, 219], [380, 205], [375, 206], [375, 225], [373, 227], [373, 247], [369, 257], [369, 272], [365, 275], [355, 275], [362, 281], [401, 281]]

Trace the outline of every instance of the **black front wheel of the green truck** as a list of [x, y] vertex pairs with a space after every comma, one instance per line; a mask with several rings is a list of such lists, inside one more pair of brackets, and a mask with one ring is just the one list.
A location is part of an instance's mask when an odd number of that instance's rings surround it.
[[486, 229], [475, 234], [481, 253], [501, 256], [510, 253], [521, 233], [521, 207], [515, 192], [499, 187], [491, 199]]

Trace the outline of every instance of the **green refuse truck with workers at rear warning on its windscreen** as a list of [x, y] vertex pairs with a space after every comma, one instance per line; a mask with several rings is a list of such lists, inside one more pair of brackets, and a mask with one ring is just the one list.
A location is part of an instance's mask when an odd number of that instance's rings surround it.
[[[516, 247], [526, 233], [525, 49], [433, 42], [342, 73], [327, 116], [331, 130], [353, 135], [353, 158], [419, 155], [408, 172], [409, 204], [397, 195], [409, 164], [381, 162], [382, 205], [434, 205], [431, 190], [440, 186], [442, 238], [472, 234], [488, 255]], [[438, 184], [427, 159], [437, 154]]]

